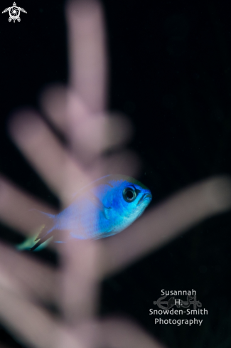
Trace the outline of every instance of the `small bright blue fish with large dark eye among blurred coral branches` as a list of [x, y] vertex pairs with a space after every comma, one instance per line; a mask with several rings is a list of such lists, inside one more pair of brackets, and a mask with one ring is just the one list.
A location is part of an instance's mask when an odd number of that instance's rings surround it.
[[139, 218], [151, 198], [151, 191], [136, 179], [119, 174], [103, 176], [80, 189], [72, 204], [57, 215], [44, 213], [50, 218], [49, 226], [43, 226], [36, 238], [29, 238], [32, 246], [23, 242], [18, 249], [41, 249], [51, 237], [55, 243], [63, 243], [60, 230], [68, 233], [68, 239], [113, 236]]

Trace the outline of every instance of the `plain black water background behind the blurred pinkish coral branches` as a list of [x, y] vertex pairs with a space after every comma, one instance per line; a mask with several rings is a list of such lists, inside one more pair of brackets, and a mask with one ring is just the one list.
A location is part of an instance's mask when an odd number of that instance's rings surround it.
[[[58, 204], [12, 144], [6, 125], [18, 107], [37, 108], [46, 85], [68, 80], [64, 1], [16, 2], [27, 11], [21, 23], [0, 15], [0, 170]], [[230, 174], [229, 2], [103, 3], [111, 59], [109, 105], [134, 123], [129, 147], [142, 159], [137, 179], [151, 189], [153, 205], [195, 181]], [[9, 6], [11, 0], [1, 1], [0, 10]], [[210, 218], [104, 280], [102, 315], [133, 317], [168, 347], [230, 347], [230, 231], [230, 213]], [[6, 226], [1, 236], [12, 242], [21, 238]], [[196, 290], [208, 310], [197, 317], [203, 325], [155, 325], [149, 308], [161, 289]], [[0, 342], [19, 347], [4, 328]]]

